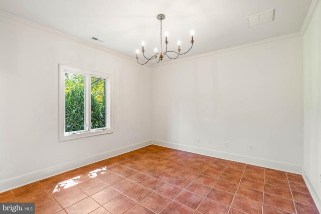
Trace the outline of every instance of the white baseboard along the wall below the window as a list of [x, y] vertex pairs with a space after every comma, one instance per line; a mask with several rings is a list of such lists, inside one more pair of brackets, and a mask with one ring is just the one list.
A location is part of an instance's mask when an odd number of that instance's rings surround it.
[[139, 142], [133, 145], [124, 146], [118, 149], [107, 151], [104, 153], [96, 154], [90, 157], [81, 158], [81, 159], [70, 161], [60, 165], [51, 166], [41, 170], [37, 170], [26, 174], [22, 174], [19, 176], [11, 177], [8, 179], [0, 180], [0, 193], [29, 184], [29, 183], [36, 182], [38, 180], [45, 179], [47, 177], [57, 175], [72, 169], [76, 169], [81, 166], [85, 166], [94, 162], [98, 162], [100, 160], [104, 160], [104, 159], [107, 159], [116, 155], [120, 155], [135, 149], [139, 149], [141, 147], [150, 145], [151, 143], [152, 143], [151, 140], [147, 140], [147, 141]]

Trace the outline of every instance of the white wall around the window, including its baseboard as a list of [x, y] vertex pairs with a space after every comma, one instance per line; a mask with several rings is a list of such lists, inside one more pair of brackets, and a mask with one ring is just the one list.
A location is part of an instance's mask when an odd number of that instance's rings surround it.
[[[0, 192], [151, 143], [149, 67], [4, 16], [0, 32]], [[59, 63], [113, 74], [114, 133], [58, 141]]]

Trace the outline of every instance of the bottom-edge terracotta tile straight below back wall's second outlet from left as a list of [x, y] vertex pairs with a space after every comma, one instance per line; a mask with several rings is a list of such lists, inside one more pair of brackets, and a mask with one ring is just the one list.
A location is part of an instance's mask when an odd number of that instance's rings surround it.
[[197, 211], [206, 214], [224, 214], [227, 213], [228, 210], [228, 206], [208, 198], [205, 198], [200, 204], [200, 206], [197, 208]]

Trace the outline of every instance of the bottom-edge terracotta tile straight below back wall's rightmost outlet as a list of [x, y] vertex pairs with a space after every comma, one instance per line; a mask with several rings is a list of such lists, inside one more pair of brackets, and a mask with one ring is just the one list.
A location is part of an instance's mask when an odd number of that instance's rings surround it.
[[235, 195], [232, 206], [247, 213], [262, 213], [262, 203]]

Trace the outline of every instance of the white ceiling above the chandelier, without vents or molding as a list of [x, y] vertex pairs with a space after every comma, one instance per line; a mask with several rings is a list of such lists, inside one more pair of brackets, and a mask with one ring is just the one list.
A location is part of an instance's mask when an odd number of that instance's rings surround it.
[[[0, 11], [135, 58], [160, 49], [158, 14], [169, 49], [195, 56], [299, 32], [312, 0], [0, 0]], [[275, 9], [274, 21], [248, 27], [246, 17]], [[103, 43], [89, 39], [94, 36]], [[141, 52], [140, 52], [141, 53]], [[141, 55], [141, 54], [140, 54]]]

